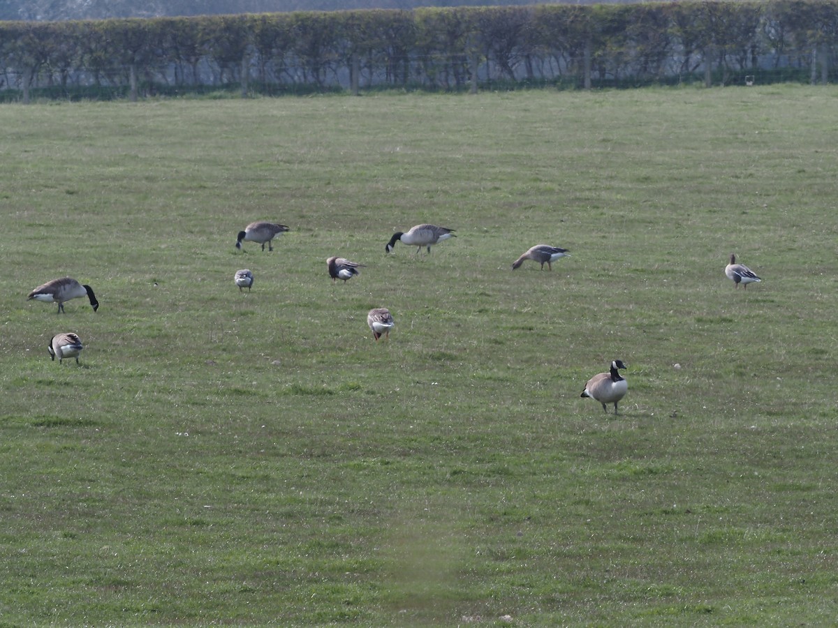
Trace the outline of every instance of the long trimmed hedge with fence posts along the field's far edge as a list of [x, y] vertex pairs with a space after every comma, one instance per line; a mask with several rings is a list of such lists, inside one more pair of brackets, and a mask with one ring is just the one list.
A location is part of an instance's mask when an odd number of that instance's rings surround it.
[[838, 0], [0, 23], [0, 100], [815, 84], [836, 44]]

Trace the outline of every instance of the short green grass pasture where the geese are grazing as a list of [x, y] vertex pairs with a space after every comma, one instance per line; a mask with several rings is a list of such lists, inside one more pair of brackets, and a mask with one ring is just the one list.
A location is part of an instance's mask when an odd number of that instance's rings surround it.
[[0, 625], [833, 622], [836, 102], [0, 107]]

